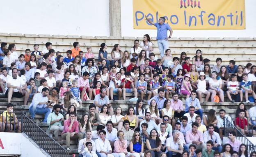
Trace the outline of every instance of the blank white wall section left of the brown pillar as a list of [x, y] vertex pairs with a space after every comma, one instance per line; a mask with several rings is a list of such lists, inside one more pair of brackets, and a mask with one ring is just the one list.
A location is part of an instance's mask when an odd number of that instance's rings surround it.
[[0, 32], [109, 36], [108, 6], [108, 0], [5, 0]]

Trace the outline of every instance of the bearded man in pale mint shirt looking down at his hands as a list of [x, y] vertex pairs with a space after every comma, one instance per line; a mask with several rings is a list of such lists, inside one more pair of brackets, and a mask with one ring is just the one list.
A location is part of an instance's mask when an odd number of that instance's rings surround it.
[[56, 104], [53, 106], [54, 112], [50, 113], [47, 117], [47, 124], [49, 125], [49, 130], [54, 132], [54, 137], [58, 140], [59, 131], [63, 131], [63, 120], [64, 117], [59, 113], [61, 106]]

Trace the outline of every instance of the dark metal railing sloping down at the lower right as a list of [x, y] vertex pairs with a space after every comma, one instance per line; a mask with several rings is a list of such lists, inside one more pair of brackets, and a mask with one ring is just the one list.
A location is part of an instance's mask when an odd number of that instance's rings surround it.
[[[225, 122], [225, 135], [228, 136], [230, 131], [235, 131], [236, 139], [241, 141], [243, 144], [247, 146], [248, 153], [250, 154], [253, 151], [256, 151], [256, 146], [253, 144], [232, 122], [229, 121], [227, 117], [224, 119]], [[256, 137], [255, 137], [256, 138]]]

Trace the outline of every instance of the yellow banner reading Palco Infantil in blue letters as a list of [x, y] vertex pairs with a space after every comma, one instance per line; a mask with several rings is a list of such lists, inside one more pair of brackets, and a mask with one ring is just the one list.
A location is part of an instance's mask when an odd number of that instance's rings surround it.
[[133, 0], [134, 29], [161, 16], [172, 29], [245, 29], [245, 0]]

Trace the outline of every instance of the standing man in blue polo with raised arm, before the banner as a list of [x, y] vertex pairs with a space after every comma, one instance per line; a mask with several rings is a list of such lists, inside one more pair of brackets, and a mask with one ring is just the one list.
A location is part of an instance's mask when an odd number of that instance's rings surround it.
[[[156, 40], [158, 40], [158, 49], [160, 51], [161, 58], [165, 55], [165, 50], [169, 49], [168, 39], [171, 38], [172, 29], [169, 24], [165, 23], [165, 17], [160, 17], [158, 23], [154, 23], [146, 17], [146, 20], [157, 28]], [[167, 30], [170, 31], [169, 37], [167, 37]]]

